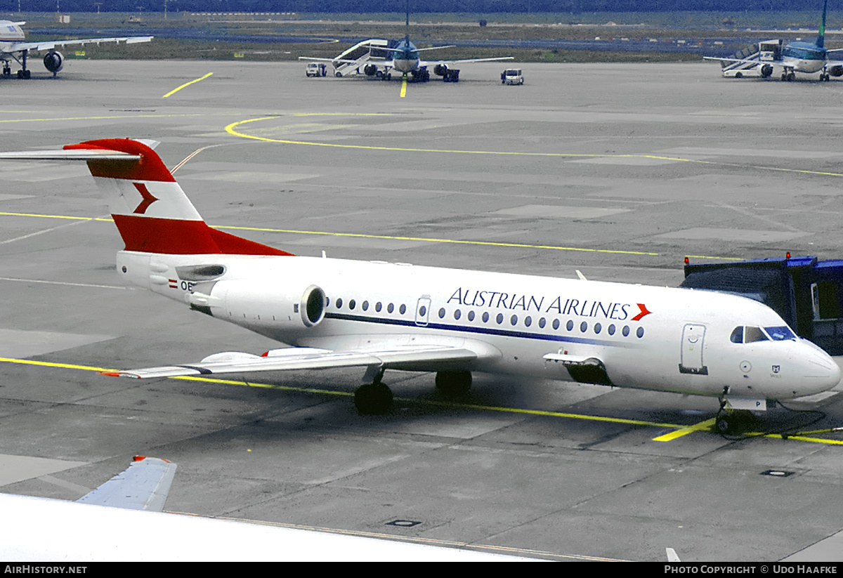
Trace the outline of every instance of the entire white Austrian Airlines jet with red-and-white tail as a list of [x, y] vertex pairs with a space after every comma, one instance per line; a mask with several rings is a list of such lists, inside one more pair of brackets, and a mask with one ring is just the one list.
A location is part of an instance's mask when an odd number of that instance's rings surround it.
[[[296, 257], [202, 221], [153, 151], [105, 139], [0, 158], [81, 159], [110, 200], [126, 281], [293, 345], [262, 356], [110, 373], [169, 377], [358, 367], [363, 414], [389, 409], [387, 369], [437, 372], [454, 395], [472, 372], [620, 388], [792, 399], [833, 388], [840, 367], [771, 308], [684, 288]], [[734, 405], [734, 404], [733, 404]], [[719, 427], [730, 426], [722, 415]]]

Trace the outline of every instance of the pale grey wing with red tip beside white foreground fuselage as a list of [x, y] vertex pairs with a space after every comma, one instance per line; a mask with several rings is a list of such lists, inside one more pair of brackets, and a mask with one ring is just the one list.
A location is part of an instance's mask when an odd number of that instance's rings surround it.
[[138, 456], [120, 474], [76, 501], [126, 510], [164, 511], [174, 476], [175, 463]]

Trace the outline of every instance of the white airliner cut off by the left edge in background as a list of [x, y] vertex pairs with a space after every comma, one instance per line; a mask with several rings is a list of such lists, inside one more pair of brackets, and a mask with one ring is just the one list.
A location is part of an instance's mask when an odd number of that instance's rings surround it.
[[[18, 78], [30, 78], [30, 69], [26, 67], [26, 58], [30, 51], [47, 51], [44, 55], [44, 67], [56, 74], [64, 67], [64, 56], [56, 46], [100, 44], [102, 42], [149, 42], [152, 36], [126, 36], [122, 38], [85, 38], [83, 40], [45, 40], [42, 42], [24, 42], [24, 30], [20, 27], [25, 22], [0, 20], [0, 61], [3, 61], [3, 78], [12, 76], [11, 60], [20, 64]], [[18, 56], [19, 55], [19, 56]]]

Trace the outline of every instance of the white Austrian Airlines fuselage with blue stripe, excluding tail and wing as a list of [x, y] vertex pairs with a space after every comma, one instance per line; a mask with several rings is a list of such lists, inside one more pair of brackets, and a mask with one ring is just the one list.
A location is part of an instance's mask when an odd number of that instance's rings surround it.
[[[717, 292], [293, 256], [121, 251], [117, 270], [289, 345], [479, 352], [436, 371], [584, 381], [566, 360], [589, 358], [617, 387], [708, 396], [727, 388], [751, 399], [792, 399], [840, 380], [835, 361], [770, 308]], [[302, 323], [302, 295], [313, 286], [327, 297], [324, 311]]]

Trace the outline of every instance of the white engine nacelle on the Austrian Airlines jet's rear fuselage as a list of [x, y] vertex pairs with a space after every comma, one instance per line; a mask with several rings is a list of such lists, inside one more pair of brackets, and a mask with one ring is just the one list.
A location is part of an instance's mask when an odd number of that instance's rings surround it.
[[267, 287], [254, 281], [213, 283], [210, 295], [194, 292], [191, 308], [266, 333], [270, 329], [309, 329], [325, 318], [328, 298], [319, 286]]

